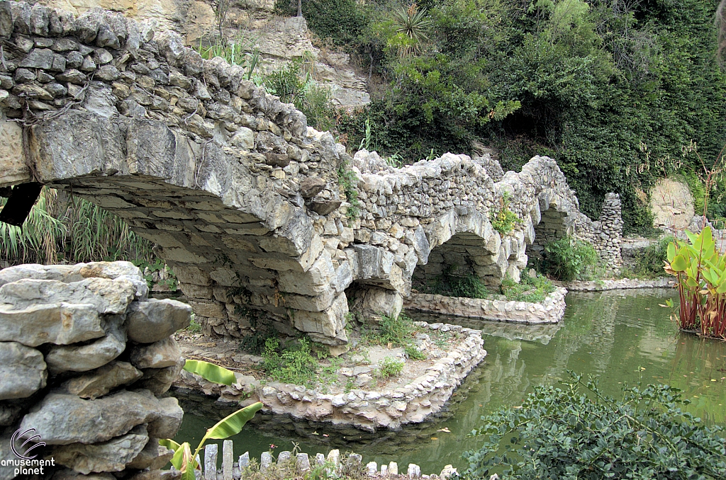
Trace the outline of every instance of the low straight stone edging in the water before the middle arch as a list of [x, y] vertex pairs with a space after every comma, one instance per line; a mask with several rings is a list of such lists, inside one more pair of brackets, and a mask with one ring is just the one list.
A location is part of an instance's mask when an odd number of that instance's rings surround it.
[[412, 294], [404, 307], [495, 322], [557, 323], [565, 315], [565, 294], [560, 287], [540, 303]]

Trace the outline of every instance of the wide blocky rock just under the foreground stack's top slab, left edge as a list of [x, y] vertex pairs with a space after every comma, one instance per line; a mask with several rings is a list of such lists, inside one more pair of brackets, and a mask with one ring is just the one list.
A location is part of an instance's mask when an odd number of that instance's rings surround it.
[[1, 342], [20, 342], [28, 347], [44, 343], [67, 345], [104, 335], [94, 305], [62, 302], [29, 305], [22, 310], [12, 310], [10, 304], [0, 305]]

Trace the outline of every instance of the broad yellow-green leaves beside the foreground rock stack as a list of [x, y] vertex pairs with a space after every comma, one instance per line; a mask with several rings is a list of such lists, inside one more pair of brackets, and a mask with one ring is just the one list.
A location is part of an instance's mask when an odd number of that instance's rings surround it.
[[[184, 370], [197, 373], [207, 381], [213, 381], [218, 384], [232, 385], [234, 382], [234, 373], [227, 368], [220, 367], [204, 360], [187, 360], [184, 363]], [[195, 480], [195, 471], [201, 470], [201, 465], [197, 461], [197, 455], [207, 440], [227, 439], [232, 435], [236, 435], [242, 431], [245, 423], [250, 421], [255, 413], [262, 408], [261, 402], [253, 403], [248, 407], [241, 408], [232, 415], [222, 418], [211, 429], [207, 429], [200, 440], [194, 453], [189, 442], [179, 444], [171, 439], [160, 439], [159, 444], [174, 450], [174, 456], [171, 458], [171, 465], [176, 470], [181, 471], [181, 480]]]

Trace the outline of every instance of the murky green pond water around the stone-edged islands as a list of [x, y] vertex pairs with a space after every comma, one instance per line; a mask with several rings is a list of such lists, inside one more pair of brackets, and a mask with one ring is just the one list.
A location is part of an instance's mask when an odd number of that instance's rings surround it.
[[[408, 463], [417, 463], [423, 473], [439, 473], [449, 463], [465, 468], [460, 455], [478, 446], [469, 434], [481, 415], [521, 405], [534, 386], [567, 379], [568, 370], [599, 376], [605, 393], [618, 396], [622, 384], [635, 383], [638, 369], [645, 368], [645, 383], [677, 386], [692, 400], [690, 412], [726, 426], [726, 342], [677, 334], [669, 309], [658, 306], [672, 296], [660, 289], [568, 294], [565, 318], [557, 326], [487, 325], [486, 359], [454, 393], [446, 412], [431, 421], [370, 434], [258, 414], [232, 437], [235, 458], [247, 450], [259, 458], [271, 444], [276, 455], [295, 442], [311, 455], [340, 448], [360, 453], [364, 463], [396, 461], [404, 471]], [[454, 323], [446, 317], [428, 320]], [[176, 441], [192, 447], [206, 428], [234, 411], [200, 395], [174, 394], [185, 412]]]

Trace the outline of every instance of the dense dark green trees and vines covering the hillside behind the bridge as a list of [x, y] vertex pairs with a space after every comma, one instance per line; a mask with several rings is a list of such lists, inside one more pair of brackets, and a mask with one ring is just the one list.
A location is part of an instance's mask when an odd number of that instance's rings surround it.
[[[371, 147], [409, 162], [473, 141], [508, 168], [547, 154], [584, 212], [596, 217], [616, 191], [626, 231], [645, 232], [653, 182], [682, 175], [702, 204], [701, 161], [713, 165], [726, 144], [714, 3], [304, 0], [303, 15], [383, 80], [338, 125], [351, 146], [367, 120]], [[724, 190], [719, 178], [711, 218], [726, 216]]]

